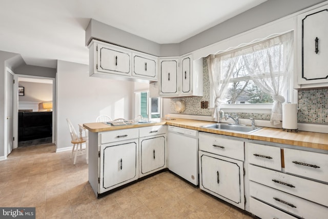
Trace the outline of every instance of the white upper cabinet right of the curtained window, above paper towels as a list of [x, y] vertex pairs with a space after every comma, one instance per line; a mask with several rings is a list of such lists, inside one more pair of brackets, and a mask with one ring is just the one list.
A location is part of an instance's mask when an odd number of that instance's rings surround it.
[[328, 83], [328, 6], [298, 15], [298, 84], [300, 88]]

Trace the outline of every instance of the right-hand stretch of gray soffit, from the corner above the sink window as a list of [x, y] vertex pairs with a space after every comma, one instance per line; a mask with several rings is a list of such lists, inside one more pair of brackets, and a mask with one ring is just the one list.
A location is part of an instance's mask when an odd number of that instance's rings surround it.
[[223, 39], [309, 8], [325, 0], [268, 0], [248, 11], [180, 43], [180, 54], [200, 49]]

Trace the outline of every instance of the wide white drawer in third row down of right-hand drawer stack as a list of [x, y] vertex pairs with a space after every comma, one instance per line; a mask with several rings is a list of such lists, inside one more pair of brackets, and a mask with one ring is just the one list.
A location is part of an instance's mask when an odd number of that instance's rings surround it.
[[252, 181], [250, 182], [250, 195], [303, 218], [321, 219], [328, 214], [327, 207]]

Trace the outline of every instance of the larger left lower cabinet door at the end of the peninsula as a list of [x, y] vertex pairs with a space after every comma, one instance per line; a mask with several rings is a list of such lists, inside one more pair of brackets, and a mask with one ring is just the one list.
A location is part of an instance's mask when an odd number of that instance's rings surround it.
[[100, 147], [100, 193], [138, 178], [137, 141], [123, 141]]

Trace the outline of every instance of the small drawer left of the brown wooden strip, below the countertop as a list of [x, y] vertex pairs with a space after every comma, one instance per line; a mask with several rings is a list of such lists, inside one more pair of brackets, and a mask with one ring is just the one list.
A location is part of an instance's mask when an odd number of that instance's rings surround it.
[[246, 144], [251, 164], [281, 170], [280, 148], [253, 143]]

